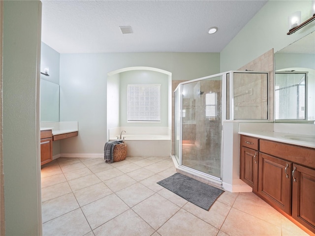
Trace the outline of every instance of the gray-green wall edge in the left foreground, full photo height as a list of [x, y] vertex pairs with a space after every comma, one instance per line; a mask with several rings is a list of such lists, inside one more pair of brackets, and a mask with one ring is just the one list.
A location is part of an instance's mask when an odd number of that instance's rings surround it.
[[3, 5], [5, 234], [41, 235], [39, 67], [41, 2]]

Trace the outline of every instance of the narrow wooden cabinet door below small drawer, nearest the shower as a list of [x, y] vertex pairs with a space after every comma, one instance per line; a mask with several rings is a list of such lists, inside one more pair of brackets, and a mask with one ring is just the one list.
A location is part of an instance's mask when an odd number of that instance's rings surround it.
[[252, 187], [253, 192], [258, 190], [258, 151], [250, 148], [241, 148], [240, 178]]

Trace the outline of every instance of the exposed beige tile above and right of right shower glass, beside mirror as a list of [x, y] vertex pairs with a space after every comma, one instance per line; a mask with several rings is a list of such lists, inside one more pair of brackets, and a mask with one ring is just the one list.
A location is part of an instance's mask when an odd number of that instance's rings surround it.
[[239, 68], [239, 70], [269, 71], [269, 119], [274, 120], [274, 49], [270, 49], [260, 57]]

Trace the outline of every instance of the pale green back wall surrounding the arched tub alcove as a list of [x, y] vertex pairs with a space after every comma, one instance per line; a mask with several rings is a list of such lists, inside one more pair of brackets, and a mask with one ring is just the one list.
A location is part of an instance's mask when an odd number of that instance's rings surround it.
[[79, 124], [78, 137], [60, 143], [61, 153], [101, 156], [107, 141], [107, 118], [108, 123], [114, 125], [113, 114], [107, 114], [107, 104], [111, 103], [107, 102], [106, 94], [109, 73], [126, 67], [145, 66], [172, 73], [172, 80], [192, 80], [219, 73], [220, 54], [61, 54], [60, 65], [60, 120], [78, 121]]

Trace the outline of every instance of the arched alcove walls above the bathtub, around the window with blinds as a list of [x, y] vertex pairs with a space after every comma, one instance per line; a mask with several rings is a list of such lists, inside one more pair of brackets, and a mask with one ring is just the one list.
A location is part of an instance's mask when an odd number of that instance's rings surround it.
[[[162, 84], [161, 122], [138, 122], [129, 124], [126, 121], [126, 86], [131, 84]], [[107, 140], [109, 130], [120, 126], [167, 126], [172, 125], [172, 73], [159, 68], [134, 66], [121, 68], [107, 73]]]

